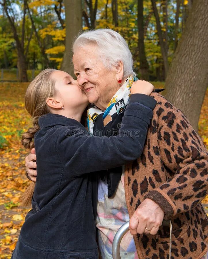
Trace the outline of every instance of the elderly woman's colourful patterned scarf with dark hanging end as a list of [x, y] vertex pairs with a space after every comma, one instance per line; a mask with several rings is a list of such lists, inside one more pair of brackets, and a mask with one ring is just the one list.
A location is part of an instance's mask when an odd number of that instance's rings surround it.
[[[126, 105], [129, 104], [131, 85], [133, 81], [137, 80], [136, 77], [129, 75], [125, 83], [112, 97], [105, 111], [100, 110], [96, 106], [87, 111], [88, 129], [92, 135], [110, 137], [118, 134]], [[105, 177], [107, 178], [108, 198], [114, 194], [121, 179], [121, 172], [121, 166], [99, 172], [102, 180], [105, 180]]]

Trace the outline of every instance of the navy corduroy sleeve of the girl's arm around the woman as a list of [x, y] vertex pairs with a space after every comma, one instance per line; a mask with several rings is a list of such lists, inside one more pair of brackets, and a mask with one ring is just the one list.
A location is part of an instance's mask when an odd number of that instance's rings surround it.
[[69, 127], [68, 137], [60, 134], [56, 146], [61, 147], [62, 152], [64, 150], [63, 157], [68, 160], [66, 165], [71, 176], [110, 169], [138, 158], [152, 115], [152, 109], [130, 103], [125, 109], [118, 135], [109, 138], [89, 136], [84, 131], [70, 132]]

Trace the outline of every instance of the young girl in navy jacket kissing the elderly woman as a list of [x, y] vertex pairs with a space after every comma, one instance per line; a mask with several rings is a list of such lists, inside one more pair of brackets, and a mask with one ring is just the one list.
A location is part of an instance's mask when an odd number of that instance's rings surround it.
[[13, 259], [98, 258], [95, 171], [141, 155], [152, 110], [139, 102], [152, 99], [147, 96], [150, 88], [133, 84], [123, 127], [108, 138], [91, 136], [80, 123], [88, 99], [70, 75], [45, 69], [30, 83], [25, 107], [33, 117], [33, 128], [23, 134], [22, 144], [33, 148], [34, 137], [38, 176], [35, 189], [26, 192], [29, 198], [24, 202], [31, 203], [32, 197], [32, 210]]

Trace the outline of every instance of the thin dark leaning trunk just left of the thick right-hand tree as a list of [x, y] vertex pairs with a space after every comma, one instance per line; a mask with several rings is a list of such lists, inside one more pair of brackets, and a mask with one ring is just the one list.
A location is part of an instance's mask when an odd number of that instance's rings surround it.
[[163, 41], [163, 34], [162, 34], [160, 18], [159, 18], [159, 14], [158, 14], [158, 11], [157, 11], [156, 2], [155, 2], [155, 0], [151, 0], [151, 2], [152, 2], [152, 9], [153, 9], [153, 12], [154, 12], [154, 16], [155, 16], [155, 19], [156, 19], [157, 34], [158, 34], [158, 37], [159, 37], [161, 53], [162, 53], [162, 56], [163, 56], [163, 62], [164, 62], [164, 67], [165, 67], [165, 77], [166, 77], [167, 73], [168, 73], [168, 69], [169, 69], [169, 64], [168, 64], [168, 59], [167, 59], [167, 47], [166, 47], [167, 43]]

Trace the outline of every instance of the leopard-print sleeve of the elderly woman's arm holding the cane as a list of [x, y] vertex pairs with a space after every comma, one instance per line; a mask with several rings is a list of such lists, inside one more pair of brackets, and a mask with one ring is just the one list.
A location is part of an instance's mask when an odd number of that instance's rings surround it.
[[180, 110], [170, 114], [159, 130], [158, 139], [162, 162], [172, 177], [145, 195], [145, 199], [156, 202], [168, 220], [192, 209], [206, 197], [208, 153]]

